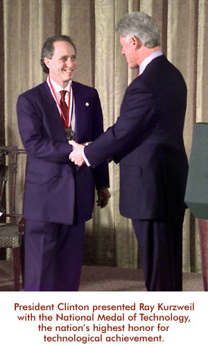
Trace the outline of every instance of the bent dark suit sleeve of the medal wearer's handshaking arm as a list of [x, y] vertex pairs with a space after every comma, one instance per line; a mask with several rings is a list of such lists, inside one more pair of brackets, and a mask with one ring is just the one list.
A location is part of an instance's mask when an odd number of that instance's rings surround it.
[[44, 128], [42, 110], [25, 95], [17, 100], [19, 134], [26, 153], [33, 158], [60, 162], [71, 153], [72, 146], [49, 137]]

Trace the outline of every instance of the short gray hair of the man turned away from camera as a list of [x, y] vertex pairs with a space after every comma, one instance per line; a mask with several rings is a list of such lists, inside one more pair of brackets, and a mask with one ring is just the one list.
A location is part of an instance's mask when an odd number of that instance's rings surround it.
[[158, 26], [154, 19], [144, 12], [125, 15], [116, 25], [116, 31], [121, 37], [137, 37], [148, 48], [160, 45]]

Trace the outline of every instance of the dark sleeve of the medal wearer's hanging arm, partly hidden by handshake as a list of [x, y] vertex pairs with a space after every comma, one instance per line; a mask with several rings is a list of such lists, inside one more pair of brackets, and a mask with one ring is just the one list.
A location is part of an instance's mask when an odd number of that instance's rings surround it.
[[[101, 109], [101, 101], [96, 91], [94, 104], [94, 122], [93, 122], [93, 141], [103, 134], [103, 112]], [[109, 171], [107, 160], [103, 160], [93, 169], [96, 189], [99, 187], [110, 187]]]

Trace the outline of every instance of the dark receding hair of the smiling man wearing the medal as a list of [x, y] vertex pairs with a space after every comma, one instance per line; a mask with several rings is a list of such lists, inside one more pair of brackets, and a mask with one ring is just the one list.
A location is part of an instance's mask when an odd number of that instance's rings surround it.
[[57, 36], [49, 37], [46, 40], [46, 42], [44, 43], [44, 45], [42, 46], [41, 58], [40, 58], [40, 63], [41, 63], [42, 69], [46, 74], [49, 74], [49, 69], [48, 69], [48, 67], [46, 67], [46, 65], [44, 63], [44, 58], [49, 58], [49, 59], [53, 58], [54, 42], [62, 42], [62, 41], [69, 42], [70, 44], [72, 44], [72, 46], [76, 52], [76, 46], [73, 43], [73, 41], [71, 40], [71, 37], [69, 37], [67, 35], [57, 35]]

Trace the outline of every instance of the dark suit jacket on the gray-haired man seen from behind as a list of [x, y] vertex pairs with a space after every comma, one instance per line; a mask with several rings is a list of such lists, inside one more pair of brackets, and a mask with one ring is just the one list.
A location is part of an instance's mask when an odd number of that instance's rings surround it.
[[116, 124], [85, 147], [92, 167], [106, 158], [120, 162], [123, 216], [155, 219], [184, 211], [186, 106], [182, 74], [159, 56], [128, 86]]

